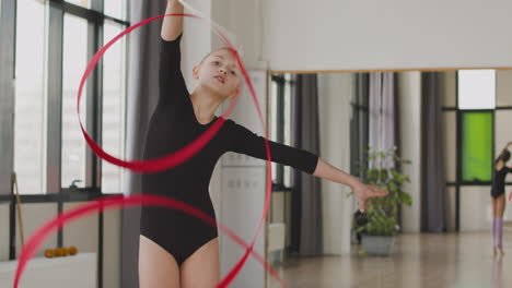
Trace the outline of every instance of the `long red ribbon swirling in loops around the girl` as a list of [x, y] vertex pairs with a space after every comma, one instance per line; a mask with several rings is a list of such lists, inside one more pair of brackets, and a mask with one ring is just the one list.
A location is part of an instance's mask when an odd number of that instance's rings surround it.
[[[144, 20], [144, 21], [142, 21], [142, 22], [140, 22], [140, 23], [138, 23], [138, 24], [136, 24], [133, 26], [128, 27], [127, 29], [121, 32], [119, 35], [114, 37], [108, 44], [106, 44], [104, 47], [102, 47], [94, 55], [94, 57], [92, 58], [92, 60], [88, 64], [88, 68], [85, 70], [84, 75], [82, 76], [82, 80], [80, 82], [78, 98], [77, 98], [77, 112], [78, 112], [78, 117], [79, 117], [80, 128], [81, 128], [82, 133], [83, 133], [83, 135], [85, 137], [85, 141], [88, 142], [91, 149], [100, 158], [102, 158], [102, 159], [104, 159], [104, 160], [106, 160], [106, 161], [108, 161], [108, 163], [110, 163], [113, 165], [124, 167], [124, 168], [127, 168], [127, 169], [136, 171], [136, 172], [146, 172], [146, 173], [148, 173], [148, 172], [158, 172], [158, 171], [166, 170], [166, 169], [176, 167], [179, 164], [187, 160], [188, 158], [193, 157], [206, 144], [208, 144], [208, 142], [218, 133], [220, 128], [223, 125], [223, 123], [225, 121], [225, 118], [228, 118], [231, 115], [234, 106], [236, 105], [236, 99], [237, 99], [237, 96], [236, 96], [236, 98], [230, 105], [228, 111], [225, 111], [222, 115], [222, 117], [220, 117], [218, 119], [218, 121], [216, 121], [197, 140], [195, 140], [193, 143], [190, 143], [186, 147], [175, 152], [174, 154], [171, 154], [171, 155], [167, 155], [167, 156], [164, 156], [164, 157], [161, 157], [161, 158], [155, 158], [155, 159], [150, 159], [150, 160], [126, 161], [126, 160], [118, 159], [118, 158], [109, 155], [108, 153], [103, 151], [102, 147], [96, 142], [94, 142], [94, 140], [85, 131], [85, 129], [84, 129], [84, 127], [82, 124], [82, 121], [80, 119], [80, 99], [82, 97], [82, 89], [83, 89], [83, 86], [85, 84], [85, 81], [88, 80], [88, 77], [91, 74], [92, 70], [97, 64], [100, 59], [103, 57], [105, 51], [114, 43], [116, 43], [118, 39], [120, 39], [125, 35], [131, 33], [133, 29], [136, 29], [136, 28], [138, 28], [138, 27], [140, 27], [142, 25], [146, 25], [146, 24], [148, 24], [148, 23], [150, 23], [152, 21], [165, 17], [165, 16], [187, 16], [187, 17], [198, 19], [198, 16], [195, 16], [195, 15], [191, 15], [191, 14], [181, 14], [181, 13], [178, 14], [178, 13], [176, 13], [176, 14], [154, 16], [154, 17]], [[231, 51], [233, 57], [236, 59], [236, 62], [238, 63], [238, 67], [242, 70], [242, 74], [244, 75], [245, 82], [247, 83], [247, 86], [249, 88], [251, 95], [253, 96], [253, 100], [255, 103], [259, 120], [261, 121], [261, 124], [265, 128], [265, 121], [264, 121], [264, 118], [263, 118], [261, 110], [259, 108], [259, 101], [258, 101], [258, 99], [256, 97], [256, 92], [255, 92], [253, 83], [252, 83], [252, 81], [251, 81], [251, 79], [248, 76], [248, 73], [247, 73], [247, 71], [246, 71], [246, 69], [245, 69], [245, 67], [243, 64], [242, 59], [240, 59], [240, 57], [238, 57], [238, 55], [236, 52], [236, 49], [229, 41], [229, 39], [219, 29], [213, 28], [213, 31], [216, 32], [217, 35], [219, 35], [219, 37], [222, 39], [222, 41], [230, 48], [229, 50]], [[265, 268], [267, 271], [269, 271], [271, 273], [271, 275], [274, 277], [276, 277], [276, 279], [278, 279], [281, 283], [282, 286], [286, 286], [286, 284], [279, 278], [277, 273], [274, 269], [271, 269], [271, 267], [267, 263], [265, 263], [265, 261], [261, 259], [261, 256], [253, 251], [254, 244], [255, 244], [255, 242], [257, 240], [257, 237], [259, 236], [259, 232], [261, 231], [263, 225], [265, 223], [265, 218], [266, 218], [266, 215], [268, 213], [268, 207], [269, 207], [269, 202], [270, 202], [270, 192], [271, 192], [271, 182], [270, 182], [270, 179], [271, 179], [271, 165], [270, 165], [270, 163], [271, 163], [271, 157], [270, 157], [270, 147], [268, 145], [268, 134], [267, 134], [267, 132], [265, 132], [265, 147], [266, 147], [266, 151], [267, 151], [267, 189], [266, 189], [266, 199], [265, 199], [265, 206], [264, 206], [264, 212], [263, 212], [263, 215], [261, 215], [261, 219], [260, 219], [258, 228], [256, 230], [256, 235], [254, 236], [253, 241], [248, 245], [240, 237], [237, 237], [235, 233], [228, 230], [228, 228], [219, 225], [219, 228], [221, 228], [221, 231], [228, 233], [238, 244], [241, 244], [243, 247], [246, 247], [246, 251], [245, 251], [244, 255], [242, 256], [242, 259], [228, 273], [228, 275], [219, 283], [219, 285], [217, 287], [226, 287], [228, 285], [230, 285], [235, 279], [236, 275], [240, 274], [240, 272], [243, 268], [243, 266], [245, 265], [249, 254], [253, 254], [256, 257], [256, 260], [258, 260], [260, 263], [263, 263]], [[206, 214], [203, 214], [202, 212], [200, 212], [200, 211], [198, 211], [198, 209], [196, 209], [194, 207], [187, 206], [184, 203], [181, 203], [181, 202], [177, 202], [177, 201], [174, 201], [174, 200], [171, 200], [171, 199], [155, 197], [154, 195], [139, 195], [139, 196], [132, 196], [132, 197], [126, 197], [126, 199], [110, 199], [110, 197], [107, 197], [107, 199], [102, 199], [100, 201], [93, 201], [92, 203], [85, 203], [85, 204], [82, 204], [82, 205], [75, 207], [74, 209], [72, 209], [72, 211], [70, 211], [70, 212], [68, 212], [66, 214], [58, 215], [56, 218], [54, 218], [53, 220], [50, 220], [47, 224], [45, 224], [44, 226], [42, 226], [42, 228], [39, 228], [31, 237], [31, 239], [27, 241], [27, 243], [23, 247], [22, 252], [20, 254], [20, 259], [19, 259], [19, 263], [18, 263], [18, 269], [16, 269], [16, 276], [15, 276], [15, 279], [14, 279], [14, 288], [18, 288], [18, 285], [19, 285], [19, 281], [21, 279], [21, 276], [23, 274], [23, 271], [25, 268], [25, 265], [31, 260], [31, 257], [34, 255], [36, 249], [40, 245], [40, 243], [48, 236], [49, 232], [58, 229], [59, 227], [60, 228], [63, 227], [63, 225], [67, 224], [68, 221], [71, 221], [71, 220], [74, 220], [74, 219], [78, 219], [78, 218], [82, 218], [84, 216], [88, 216], [89, 214], [97, 213], [102, 208], [108, 208], [108, 207], [114, 207], [114, 206], [136, 206], [136, 205], [163, 205], [163, 206], [166, 206], [166, 207], [184, 211], [184, 212], [186, 212], [186, 213], [188, 213], [190, 215], [194, 215], [194, 216], [196, 216], [196, 217], [198, 217], [198, 218], [200, 218], [200, 219], [202, 219], [202, 220], [205, 220], [205, 221], [207, 221], [207, 223], [209, 223], [211, 225], [216, 225], [214, 219], [208, 218], [206, 216]]]

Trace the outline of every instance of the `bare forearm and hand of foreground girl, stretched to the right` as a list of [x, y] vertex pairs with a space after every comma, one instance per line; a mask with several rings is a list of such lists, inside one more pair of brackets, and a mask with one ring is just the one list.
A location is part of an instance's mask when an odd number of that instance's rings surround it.
[[366, 199], [385, 196], [388, 193], [385, 189], [362, 183], [358, 178], [339, 170], [321, 158], [318, 158], [313, 176], [350, 187], [358, 197], [361, 212], [364, 212]]

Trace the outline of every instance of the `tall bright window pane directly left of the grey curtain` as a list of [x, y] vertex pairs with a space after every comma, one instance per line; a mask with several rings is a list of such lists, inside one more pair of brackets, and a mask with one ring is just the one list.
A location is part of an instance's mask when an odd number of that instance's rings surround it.
[[[121, 32], [121, 27], [105, 22], [104, 44]], [[103, 57], [103, 148], [109, 154], [125, 158], [125, 40], [113, 45]], [[102, 163], [102, 191], [123, 192], [124, 169]]]

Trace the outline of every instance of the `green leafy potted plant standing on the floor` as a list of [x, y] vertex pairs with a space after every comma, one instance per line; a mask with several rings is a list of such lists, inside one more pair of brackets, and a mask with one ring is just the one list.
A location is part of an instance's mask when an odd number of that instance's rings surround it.
[[[357, 231], [362, 235], [362, 250], [369, 255], [389, 255], [395, 236], [399, 231], [397, 212], [400, 204], [410, 206], [412, 200], [402, 190], [402, 184], [410, 182], [402, 173], [400, 164], [410, 164], [396, 155], [396, 147], [387, 152], [369, 151], [369, 168], [362, 170], [362, 181], [366, 184], [387, 189], [389, 194], [373, 197], [366, 203], [366, 211], [357, 219]], [[353, 192], [351, 193], [353, 195]]]

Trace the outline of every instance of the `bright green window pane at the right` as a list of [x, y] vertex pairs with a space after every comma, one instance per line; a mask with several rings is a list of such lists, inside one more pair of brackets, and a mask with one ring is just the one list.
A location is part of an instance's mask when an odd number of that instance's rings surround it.
[[463, 181], [490, 181], [492, 177], [492, 113], [462, 116]]

